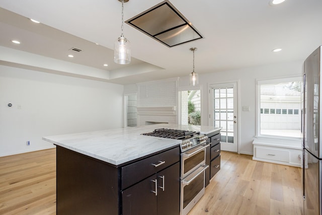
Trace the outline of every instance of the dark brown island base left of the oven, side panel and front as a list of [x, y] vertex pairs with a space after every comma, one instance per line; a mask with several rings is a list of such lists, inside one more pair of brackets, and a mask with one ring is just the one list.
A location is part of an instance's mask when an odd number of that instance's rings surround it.
[[56, 155], [58, 215], [180, 214], [179, 147], [120, 166], [59, 146]]

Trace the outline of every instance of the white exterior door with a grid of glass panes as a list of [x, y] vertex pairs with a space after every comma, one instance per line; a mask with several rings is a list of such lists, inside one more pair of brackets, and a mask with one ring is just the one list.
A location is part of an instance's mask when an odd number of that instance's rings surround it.
[[210, 125], [221, 127], [221, 149], [237, 152], [237, 83], [210, 85]]

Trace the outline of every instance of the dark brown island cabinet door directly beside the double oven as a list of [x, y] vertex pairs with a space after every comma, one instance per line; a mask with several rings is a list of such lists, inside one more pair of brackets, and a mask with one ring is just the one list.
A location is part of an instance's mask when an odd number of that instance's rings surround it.
[[180, 213], [180, 162], [157, 173], [157, 178], [157, 215], [178, 215]]

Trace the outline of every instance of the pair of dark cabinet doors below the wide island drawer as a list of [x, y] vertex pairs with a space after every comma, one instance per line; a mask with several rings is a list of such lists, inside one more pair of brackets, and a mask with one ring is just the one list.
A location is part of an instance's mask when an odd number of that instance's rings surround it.
[[180, 213], [179, 174], [178, 162], [122, 191], [122, 214], [178, 215]]

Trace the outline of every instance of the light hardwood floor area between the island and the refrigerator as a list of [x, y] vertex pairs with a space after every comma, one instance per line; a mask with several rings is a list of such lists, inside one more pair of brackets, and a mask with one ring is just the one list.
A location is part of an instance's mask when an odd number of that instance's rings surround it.
[[297, 167], [222, 151], [221, 169], [188, 215], [302, 215], [300, 173]]

